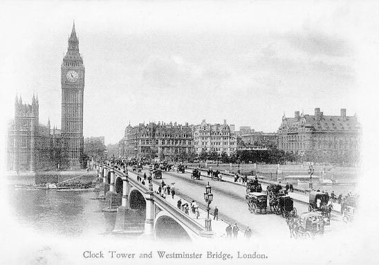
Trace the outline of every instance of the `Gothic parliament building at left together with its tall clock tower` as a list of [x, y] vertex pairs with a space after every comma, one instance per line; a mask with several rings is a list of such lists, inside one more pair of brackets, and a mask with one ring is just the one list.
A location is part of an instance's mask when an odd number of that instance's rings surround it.
[[61, 65], [62, 129], [39, 123], [38, 98], [32, 104], [15, 99], [15, 119], [8, 126], [7, 170], [35, 172], [52, 168], [80, 169], [83, 156], [85, 68], [75, 24]]

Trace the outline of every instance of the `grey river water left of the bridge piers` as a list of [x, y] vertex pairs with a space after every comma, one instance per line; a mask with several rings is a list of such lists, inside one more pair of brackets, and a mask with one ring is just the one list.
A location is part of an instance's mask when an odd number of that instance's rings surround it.
[[102, 212], [104, 200], [93, 191], [31, 190], [15, 184], [34, 183], [34, 177], [7, 178], [7, 199], [12, 219], [35, 232], [77, 237], [111, 234], [115, 212]]

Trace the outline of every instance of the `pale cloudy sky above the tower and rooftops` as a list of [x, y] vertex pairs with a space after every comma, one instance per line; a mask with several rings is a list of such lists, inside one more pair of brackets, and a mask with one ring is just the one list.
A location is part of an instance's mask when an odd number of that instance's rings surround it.
[[[362, 16], [350, 1], [3, 3], [4, 117], [16, 93], [61, 127], [60, 64], [75, 19], [86, 67], [84, 137], [224, 119], [277, 131], [294, 111], [360, 116]], [[22, 7], [22, 8], [21, 8]], [[8, 25], [8, 26], [7, 26]]]

